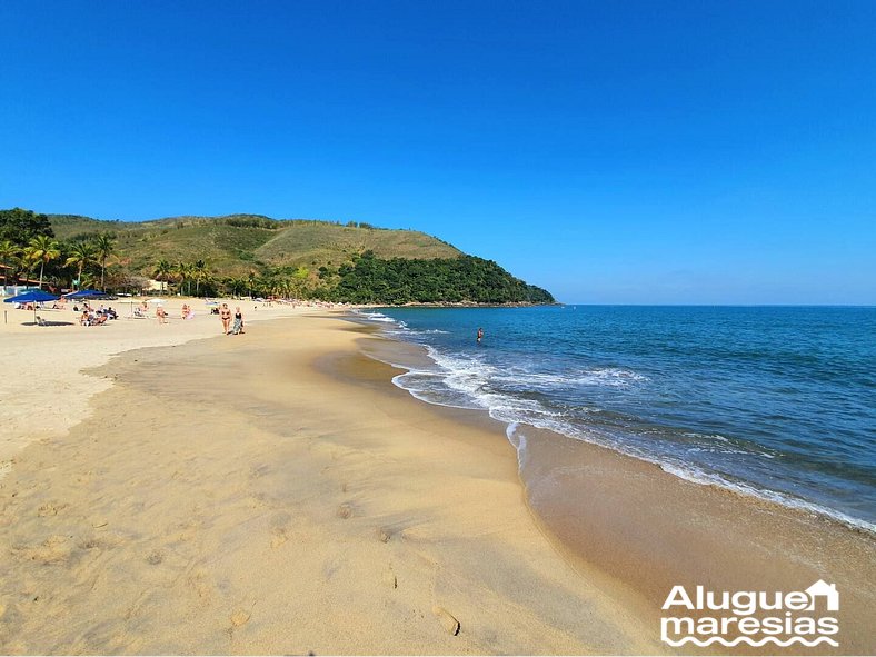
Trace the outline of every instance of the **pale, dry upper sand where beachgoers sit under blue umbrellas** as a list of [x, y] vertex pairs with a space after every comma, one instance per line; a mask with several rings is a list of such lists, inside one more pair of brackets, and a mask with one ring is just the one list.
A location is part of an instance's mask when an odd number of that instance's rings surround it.
[[[86, 376], [82, 368], [106, 362], [112, 355], [221, 335], [218, 317], [211, 316], [202, 299], [170, 297], [161, 303], [168, 311], [168, 323], [155, 318], [157, 303], [148, 303], [147, 319], [131, 319], [132, 309], [143, 299], [104, 301], [119, 312], [119, 319], [99, 327], [79, 326], [76, 303], [66, 310], [39, 310], [36, 315], [52, 326], [32, 326], [34, 312], [0, 303], [0, 476], [10, 467], [10, 459], [24, 446], [50, 436], [63, 434], [90, 414], [88, 400], [110, 387], [111, 381]], [[223, 300], [233, 309], [241, 306], [247, 323], [313, 312], [313, 309], [286, 305]], [[96, 306], [100, 301], [93, 302]], [[195, 309], [192, 320], [181, 319], [183, 303]], [[80, 303], [81, 306], [81, 303]]]

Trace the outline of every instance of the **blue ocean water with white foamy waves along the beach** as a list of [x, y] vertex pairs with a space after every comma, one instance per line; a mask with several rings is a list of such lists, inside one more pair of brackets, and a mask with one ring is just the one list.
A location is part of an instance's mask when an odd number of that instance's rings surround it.
[[431, 404], [484, 409], [511, 438], [515, 427], [550, 429], [876, 531], [876, 308], [390, 308], [359, 317], [427, 349], [431, 365], [396, 385]]

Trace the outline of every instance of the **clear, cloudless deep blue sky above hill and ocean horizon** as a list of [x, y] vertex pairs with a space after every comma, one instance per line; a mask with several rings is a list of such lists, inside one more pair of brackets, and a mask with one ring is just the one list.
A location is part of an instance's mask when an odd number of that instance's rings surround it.
[[0, 2], [0, 208], [415, 228], [568, 302], [876, 303], [876, 2]]

